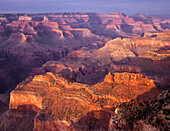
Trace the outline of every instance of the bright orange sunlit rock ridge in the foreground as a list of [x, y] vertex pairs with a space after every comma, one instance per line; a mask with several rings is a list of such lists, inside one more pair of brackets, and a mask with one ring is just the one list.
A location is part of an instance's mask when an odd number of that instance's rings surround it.
[[113, 107], [131, 99], [151, 100], [158, 94], [154, 81], [139, 74], [109, 73], [103, 82], [88, 85], [48, 72], [18, 85], [10, 94], [9, 107], [38, 112], [34, 130], [107, 130]]

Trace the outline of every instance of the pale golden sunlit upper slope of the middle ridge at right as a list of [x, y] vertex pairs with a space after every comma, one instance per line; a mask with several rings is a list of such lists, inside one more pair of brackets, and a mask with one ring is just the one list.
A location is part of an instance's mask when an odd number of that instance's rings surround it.
[[[151, 34], [152, 33], [150, 33], [150, 35]], [[100, 63], [101, 65], [107, 65], [111, 62], [125, 63], [148, 51], [157, 51], [169, 47], [170, 37], [168, 30], [164, 33], [153, 33], [153, 38], [150, 37], [150, 35], [147, 33], [145, 37], [116, 38], [108, 41], [105, 46], [100, 49], [82, 51], [77, 57], [94, 63]]]

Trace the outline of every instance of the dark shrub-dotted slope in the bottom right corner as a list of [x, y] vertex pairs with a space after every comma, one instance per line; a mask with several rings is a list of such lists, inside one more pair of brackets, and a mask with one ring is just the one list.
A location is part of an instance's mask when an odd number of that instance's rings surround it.
[[109, 131], [114, 130], [168, 130], [169, 91], [163, 91], [151, 103], [130, 101], [115, 109]]

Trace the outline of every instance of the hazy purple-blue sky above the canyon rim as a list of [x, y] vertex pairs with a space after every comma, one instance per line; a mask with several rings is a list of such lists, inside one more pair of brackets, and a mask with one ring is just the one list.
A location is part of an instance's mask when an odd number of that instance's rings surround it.
[[170, 14], [170, 0], [0, 0], [0, 13]]

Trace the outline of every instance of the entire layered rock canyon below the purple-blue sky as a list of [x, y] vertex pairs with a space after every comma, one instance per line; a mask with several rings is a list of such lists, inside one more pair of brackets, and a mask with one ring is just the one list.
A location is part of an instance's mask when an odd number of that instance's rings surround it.
[[168, 129], [167, 16], [0, 14], [0, 130]]

